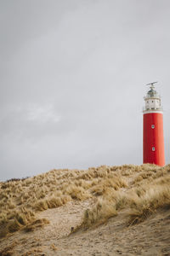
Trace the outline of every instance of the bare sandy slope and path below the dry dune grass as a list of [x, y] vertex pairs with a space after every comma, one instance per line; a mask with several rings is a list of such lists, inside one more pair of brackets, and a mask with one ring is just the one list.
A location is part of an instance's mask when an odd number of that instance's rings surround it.
[[[126, 212], [92, 230], [71, 233], [81, 223], [84, 208], [93, 203], [71, 201], [41, 212], [50, 224], [0, 241], [2, 255], [170, 255], [170, 210], [160, 210], [143, 223], [127, 227]], [[1, 255], [1, 254], [0, 254]]]

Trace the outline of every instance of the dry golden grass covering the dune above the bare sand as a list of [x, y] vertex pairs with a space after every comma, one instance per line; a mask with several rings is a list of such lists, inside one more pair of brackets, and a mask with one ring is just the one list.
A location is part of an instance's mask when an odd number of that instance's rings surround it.
[[[123, 208], [129, 208], [129, 224], [139, 223], [156, 208], [168, 205], [169, 190], [166, 192], [163, 188], [170, 184], [169, 174], [170, 165], [162, 168], [154, 165], [99, 166], [82, 171], [52, 170], [36, 177], [1, 182], [0, 236], [26, 227], [34, 230], [38, 221], [39, 226], [48, 224], [48, 220], [43, 219], [42, 223], [37, 220], [37, 212], [89, 198], [94, 198], [96, 203], [84, 212], [84, 228], [105, 222]], [[156, 201], [159, 196], [160, 200]], [[150, 208], [148, 213], [147, 207]]]

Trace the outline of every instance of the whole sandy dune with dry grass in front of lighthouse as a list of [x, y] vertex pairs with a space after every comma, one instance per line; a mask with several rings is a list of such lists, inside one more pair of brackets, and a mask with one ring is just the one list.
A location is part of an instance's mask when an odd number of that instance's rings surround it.
[[0, 255], [170, 255], [170, 165], [0, 183]]

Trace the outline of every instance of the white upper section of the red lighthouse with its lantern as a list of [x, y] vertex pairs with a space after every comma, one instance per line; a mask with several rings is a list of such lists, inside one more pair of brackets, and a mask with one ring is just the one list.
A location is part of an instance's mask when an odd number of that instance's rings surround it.
[[[156, 83], [156, 82], [155, 82]], [[150, 84], [150, 90], [147, 92], [147, 95], [144, 96], [145, 107], [143, 109], [144, 113], [162, 113], [161, 108], [161, 96], [158, 95], [155, 90], [155, 83]]]

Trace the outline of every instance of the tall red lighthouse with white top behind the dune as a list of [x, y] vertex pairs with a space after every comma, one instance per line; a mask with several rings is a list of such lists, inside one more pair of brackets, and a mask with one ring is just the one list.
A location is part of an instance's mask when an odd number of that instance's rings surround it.
[[161, 96], [155, 90], [155, 84], [150, 85], [143, 109], [143, 163], [165, 166], [164, 137], [163, 137], [163, 110]]

